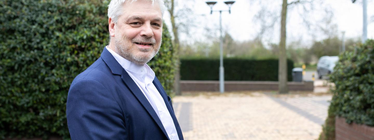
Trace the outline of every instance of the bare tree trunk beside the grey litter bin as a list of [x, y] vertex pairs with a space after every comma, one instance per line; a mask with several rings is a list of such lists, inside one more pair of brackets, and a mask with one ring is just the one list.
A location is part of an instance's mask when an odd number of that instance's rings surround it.
[[279, 93], [288, 93], [287, 86], [287, 57], [286, 57], [286, 18], [287, 0], [283, 0], [281, 15], [281, 41], [279, 42], [278, 88]]

